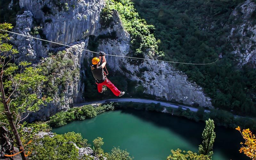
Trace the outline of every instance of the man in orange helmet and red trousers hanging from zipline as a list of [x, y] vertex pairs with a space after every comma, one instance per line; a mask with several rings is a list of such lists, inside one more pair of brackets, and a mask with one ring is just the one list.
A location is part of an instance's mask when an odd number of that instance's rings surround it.
[[[124, 95], [124, 92], [120, 92], [116, 86], [114, 84], [112, 84], [107, 76], [104, 75], [104, 71], [103, 68], [105, 67], [107, 61], [105, 58], [106, 53], [104, 52], [99, 52], [100, 57], [94, 57], [92, 59], [92, 66], [91, 66], [91, 70], [92, 70], [92, 75], [95, 79], [95, 83], [98, 85], [98, 92], [102, 93], [103, 91], [106, 90], [106, 88], [102, 88], [103, 85], [106, 85], [116, 96], [121, 97], [122, 95]], [[100, 65], [100, 60], [102, 57], [102, 64]]]

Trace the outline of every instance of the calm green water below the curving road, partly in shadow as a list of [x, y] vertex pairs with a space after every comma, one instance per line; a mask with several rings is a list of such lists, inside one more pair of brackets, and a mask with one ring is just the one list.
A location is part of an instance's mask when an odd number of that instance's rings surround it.
[[[105, 152], [119, 146], [121, 149], [126, 148], [135, 160], [162, 160], [170, 155], [171, 149], [197, 152], [204, 126], [204, 123], [170, 114], [128, 109], [74, 121], [52, 132], [81, 133], [91, 144], [93, 139], [102, 137]], [[213, 160], [247, 159], [238, 151], [239, 143], [243, 140], [238, 131], [216, 127], [215, 132]]]

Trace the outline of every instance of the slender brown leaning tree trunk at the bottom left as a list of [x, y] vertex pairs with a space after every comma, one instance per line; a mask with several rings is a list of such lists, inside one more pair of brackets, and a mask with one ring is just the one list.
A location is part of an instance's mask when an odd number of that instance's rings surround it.
[[17, 145], [17, 147], [19, 148], [20, 151], [22, 151], [22, 149], [20, 149], [20, 148], [23, 148], [23, 152], [20, 153], [21, 158], [22, 158], [22, 160], [27, 160], [27, 157], [25, 156], [24, 147], [23, 147], [22, 142], [20, 140], [20, 135], [19, 135], [19, 133], [17, 131], [17, 128], [16, 128], [16, 126], [14, 124], [14, 121], [13, 121], [12, 113], [10, 111], [10, 108], [7, 105], [6, 100], [5, 100], [2, 77], [0, 78], [0, 90], [1, 90], [1, 93], [2, 93], [2, 102], [4, 104], [5, 115], [7, 116], [8, 122], [10, 124], [11, 129], [12, 129], [12, 133], [15, 137], [16, 145]]

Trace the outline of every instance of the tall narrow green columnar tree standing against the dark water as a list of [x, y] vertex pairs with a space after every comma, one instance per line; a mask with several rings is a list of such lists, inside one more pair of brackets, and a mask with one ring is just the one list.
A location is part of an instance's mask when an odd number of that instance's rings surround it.
[[212, 148], [213, 148], [213, 142], [215, 139], [215, 132], [214, 130], [214, 122], [210, 118], [205, 121], [206, 125], [204, 128], [204, 131], [202, 133], [203, 144], [199, 145], [198, 153], [209, 156], [210, 159], [212, 159]]

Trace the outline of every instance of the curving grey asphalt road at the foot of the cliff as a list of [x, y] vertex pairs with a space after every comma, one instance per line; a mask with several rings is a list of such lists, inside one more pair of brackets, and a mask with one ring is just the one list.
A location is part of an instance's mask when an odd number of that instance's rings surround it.
[[[117, 99], [108, 99], [108, 100], [96, 100], [92, 102], [85, 102], [85, 103], [76, 103], [74, 104], [74, 107], [82, 107], [84, 105], [88, 104], [94, 104], [94, 103], [106, 103], [106, 102], [139, 102], [139, 103], [160, 103], [161, 106], [165, 107], [172, 107], [172, 108], [178, 108], [182, 107], [182, 109], [190, 109], [193, 112], [197, 112], [197, 108], [194, 107], [189, 107], [189, 106], [184, 106], [184, 105], [178, 105], [178, 104], [173, 104], [173, 103], [168, 103], [168, 102], [163, 102], [163, 101], [157, 101], [157, 100], [146, 100], [146, 99], [137, 99], [137, 98], [117, 98]], [[205, 112], [210, 112], [209, 110], [204, 110]]]

